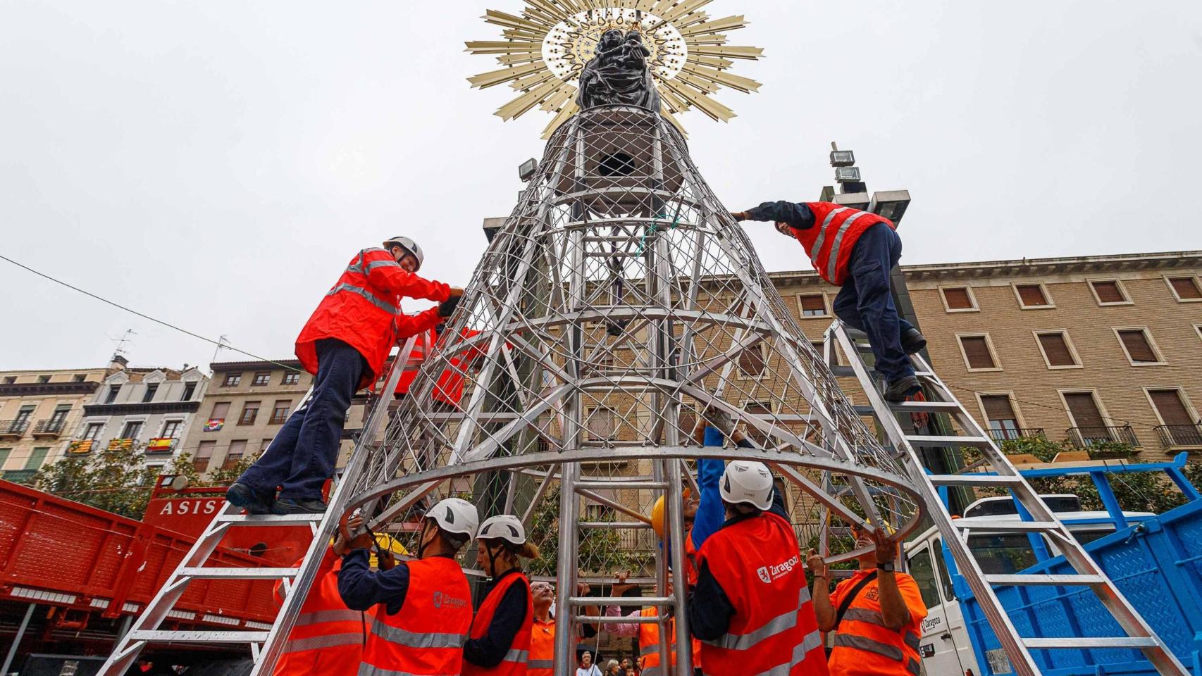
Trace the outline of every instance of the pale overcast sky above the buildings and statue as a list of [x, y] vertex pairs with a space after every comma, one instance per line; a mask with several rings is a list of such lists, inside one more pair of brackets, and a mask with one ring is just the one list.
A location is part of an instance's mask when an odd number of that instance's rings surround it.
[[[418, 7], [421, 10], [418, 10]], [[465, 283], [548, 116], [465, 78], [518, 0], [0, 0], [0, 253], [269, 358], [350, 257], [415, 237]], [[832, 140], [908, 189], [903, 263], [1202, 249], [1202, 2], [715, 0], [766, 49], [683, 116], [727, 207], [810, 201]], [[769, 270], [807, 268], [749, 225]], [[407, 305], [407, 310], [421, 305]], [[212, 345], [0, 261], [0, 369]], [[242, 357], [222, 352], [221, 360]]]

